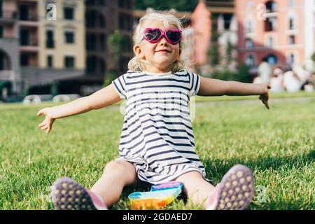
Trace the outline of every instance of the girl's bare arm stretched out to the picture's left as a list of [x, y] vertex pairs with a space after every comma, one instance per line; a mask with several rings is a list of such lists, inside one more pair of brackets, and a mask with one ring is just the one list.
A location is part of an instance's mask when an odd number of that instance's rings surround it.
[[45, 115], [45, 120], [38, 127], [46, 130], [48, 134], [52, 128], [52, 124], [57, 118], [64, 118], [91, 110], [101, 109], [120, 101], [120, 97], [113, 87], [113, 84], [104, 87], [102, 90], [94, 92], [90, 96], [80, 97], [67, 104], [59, 106], [47, 107], [38, 111], [36, 116]]

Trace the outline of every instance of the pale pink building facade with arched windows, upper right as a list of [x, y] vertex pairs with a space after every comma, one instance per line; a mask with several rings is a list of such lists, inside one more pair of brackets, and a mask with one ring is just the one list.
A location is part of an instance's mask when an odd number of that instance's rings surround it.
[[304, 64], [303, 0], [236, 0], [239, 64]]

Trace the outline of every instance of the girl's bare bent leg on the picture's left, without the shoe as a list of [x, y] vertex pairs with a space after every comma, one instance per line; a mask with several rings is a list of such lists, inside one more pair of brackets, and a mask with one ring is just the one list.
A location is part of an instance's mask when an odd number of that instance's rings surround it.
[[104, 173], [91, 191], [102, 197], [106, 207], [111, 207], [119, 200], [123, 188], [136, 179], [136, 169], [131, 162], [115, 160], [106, 165]]

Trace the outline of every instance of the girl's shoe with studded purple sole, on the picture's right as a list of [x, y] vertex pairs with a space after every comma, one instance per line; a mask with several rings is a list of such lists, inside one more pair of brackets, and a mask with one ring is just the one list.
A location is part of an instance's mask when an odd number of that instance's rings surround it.
[[253, 199], [254, 186], [251, 169], [235, 165], [223, 176], [216, 189], [216, 200], [209, 204], [207, 209], [244, 210]]

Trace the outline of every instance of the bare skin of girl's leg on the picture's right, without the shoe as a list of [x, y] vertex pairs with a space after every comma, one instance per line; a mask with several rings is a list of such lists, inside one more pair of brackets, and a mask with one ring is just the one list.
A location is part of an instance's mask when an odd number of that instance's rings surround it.
[[176, 181], [183, 183], [183, 193], [185, 193], [194, 204], [203, 204], [205, 208], [206, 200], [209, 194], [214, 190], [214, 186], [204, 180], [200, 172], [182, 174]]

